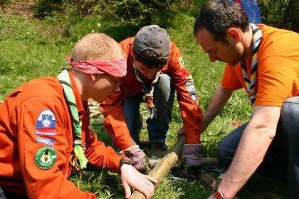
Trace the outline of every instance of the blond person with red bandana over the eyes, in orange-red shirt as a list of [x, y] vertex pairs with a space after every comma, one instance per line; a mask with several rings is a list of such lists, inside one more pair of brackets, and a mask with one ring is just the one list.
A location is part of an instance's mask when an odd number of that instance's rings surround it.
[[146, 198], [157, 180], [97, 140], [89, 123], [88, 98], [101, 103], [119, 91], [126, 56], [105, 34], [89, 34], [73, 49], [71, 69], [58, 78], [37, 78], [16, 88], [0, 105], [0, 186], [6, 198], [96, 198], [68, 181], [89, 162], [120, 173]]

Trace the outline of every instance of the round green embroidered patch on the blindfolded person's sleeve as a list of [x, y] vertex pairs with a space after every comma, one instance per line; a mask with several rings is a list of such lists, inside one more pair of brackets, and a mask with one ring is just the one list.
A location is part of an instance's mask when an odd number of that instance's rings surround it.
[[51, 168], [57, 160], [57, 153], [54, 148], [43, 147], [36, 152], [34, 157], [34, 163], [36, 163], [38, 168], [49, 169]]

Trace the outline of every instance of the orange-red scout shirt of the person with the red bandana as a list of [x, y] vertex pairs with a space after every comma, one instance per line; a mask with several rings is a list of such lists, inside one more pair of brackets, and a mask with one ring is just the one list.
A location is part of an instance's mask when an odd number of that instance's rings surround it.
[[[121, 156], [97, 141], [96, 134], [89, 129], [85, 112], [88, 102], [81, 102], [73, 75], [70, 71], [69, 74], [82, 119], [85, 156], [91, 164], [119, 173]], [[0, 104], [0, 113], [0, 186], [3, 190], [29, 198], [95, 198], [68, 181], [73, 170], [70, 166], [73, 125], [63, 87], [57, 78], [38, 78], [16, 88]], [[50, 154], [50, 158], [43, 160], [53, 164], [51, 168], [43, 167], [38, 154]]]

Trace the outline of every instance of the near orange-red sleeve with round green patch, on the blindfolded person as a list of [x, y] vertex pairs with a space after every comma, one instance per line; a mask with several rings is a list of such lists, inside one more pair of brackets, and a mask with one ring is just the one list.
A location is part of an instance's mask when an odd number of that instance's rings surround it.
[[65, 128], [65, 113], [65, 106], [50, 96], [28, 98], [16, 108], [19, 158], [29, 198], [96, 198], [66, 178], [73, 136]]

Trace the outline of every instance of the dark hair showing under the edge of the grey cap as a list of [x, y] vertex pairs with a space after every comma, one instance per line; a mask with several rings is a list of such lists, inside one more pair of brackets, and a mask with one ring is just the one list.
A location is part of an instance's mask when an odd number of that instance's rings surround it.
[[[158, 54], [154, 51], [151, 50], [145, 50], [142, 51], [142, 57], [139, 56], [136, 52], [135, 52], [135, 60], [136, 61], [140, 61], [142, 63], [142, 65], [144, 65], [146, 68], [152, 69], [152, 68], [157, 68], [157, 69], [162, 69], [167, 61], [150, 61], [149, 59], [154, 59], [154, 58], [158, 58]], [[147, 59], [148, 58], [148, 59]]]

